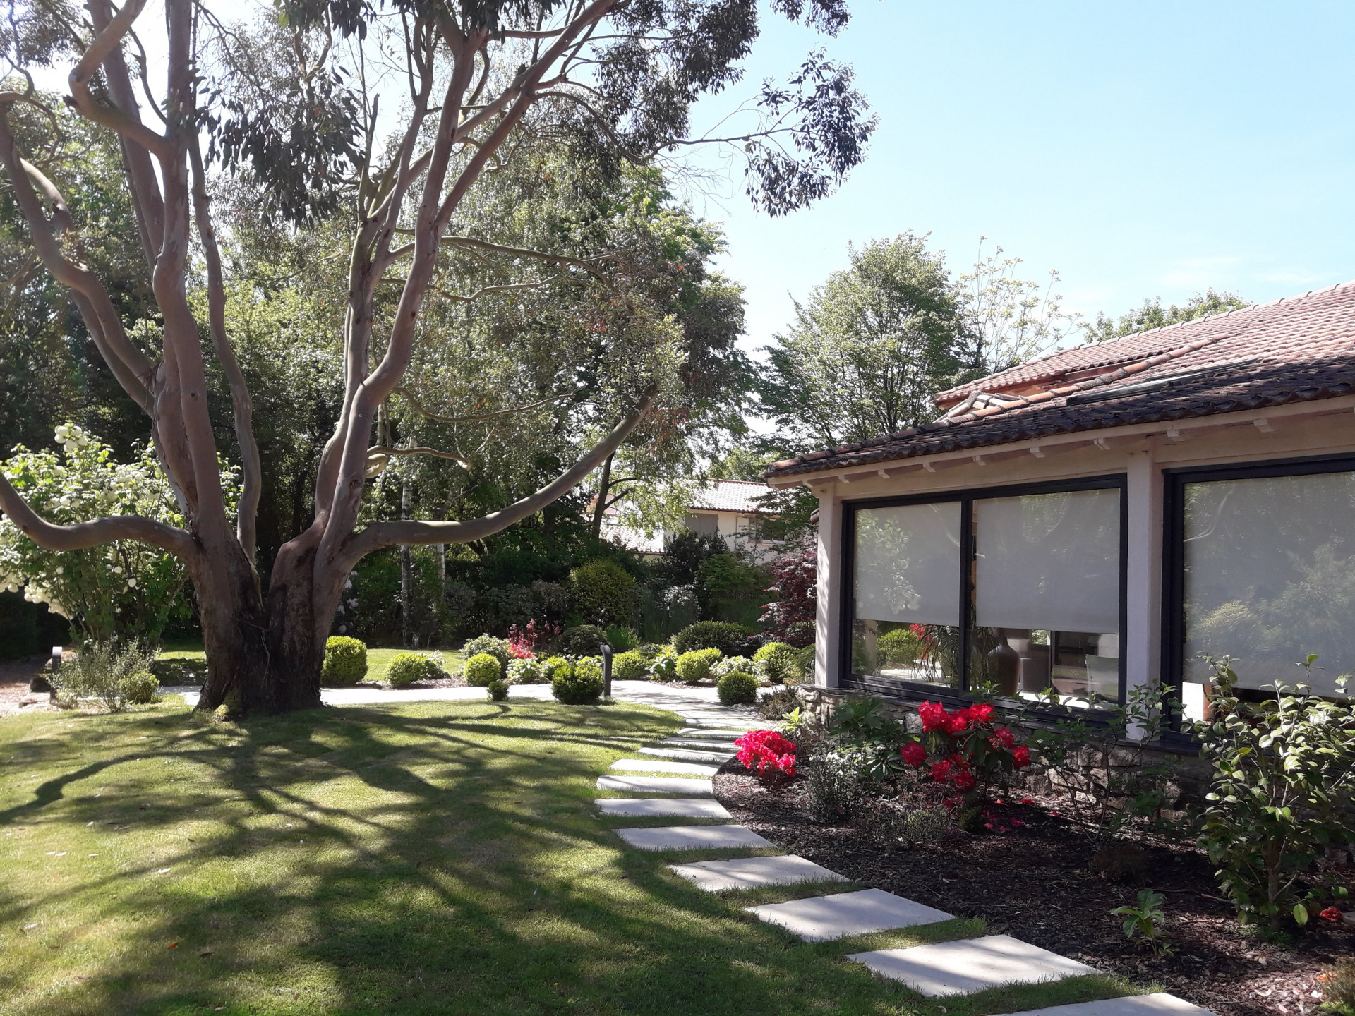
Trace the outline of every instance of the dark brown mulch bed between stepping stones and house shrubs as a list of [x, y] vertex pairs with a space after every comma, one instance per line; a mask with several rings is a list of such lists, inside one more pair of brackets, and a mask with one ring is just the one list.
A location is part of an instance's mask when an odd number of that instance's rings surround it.
[[[1033, 803], [995, 806], [995, 825], [1023, 824], [1008, 832], [957, 832], [942, 843], [890, 849], [870, 830], [813, 822], [798, 780], [768, 790], [729, 763], [715, 776], [715, 797], [733, 821], [854, 882], [982, 917], [991, 933], [1161, 985], [1220, 1016], [1312, 1013], [1321, 1004], [1322, 966], [1355, 952], [1355, 924], [1314, 920], [1308, 933], [1279, 939], [1243, 929], [1218, 898], [1214, 866], [1191, 845], [1145, 840], [1146, 874], [1127, 885], [1106, 881], [1091, 870], [1091, 847], [1058, 816], [1057, 799], [1022, 795]], [[1144, 887], [1167, 897], [1175, 952], [1164, 958], [1126, 941], [1122, 918], [1110, 914]]]

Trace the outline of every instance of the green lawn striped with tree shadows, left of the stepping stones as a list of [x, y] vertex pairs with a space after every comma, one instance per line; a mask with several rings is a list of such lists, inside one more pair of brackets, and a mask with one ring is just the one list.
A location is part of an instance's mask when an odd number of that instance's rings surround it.
[[713, 895], [622, 849], [593, 780], [679, 725], [541, 702], [0, 719], [0, 1012], [942, 1016], [844, 954], [981, 923], [806, 944], [741, 908], [821, 889]]

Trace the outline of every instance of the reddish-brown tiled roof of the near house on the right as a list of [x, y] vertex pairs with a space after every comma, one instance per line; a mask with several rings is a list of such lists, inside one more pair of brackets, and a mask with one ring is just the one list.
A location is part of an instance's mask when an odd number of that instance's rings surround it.
[[1355, 282], [1079, 345], [936, 397], [946, 415], [768, 477], [1355, 393]]

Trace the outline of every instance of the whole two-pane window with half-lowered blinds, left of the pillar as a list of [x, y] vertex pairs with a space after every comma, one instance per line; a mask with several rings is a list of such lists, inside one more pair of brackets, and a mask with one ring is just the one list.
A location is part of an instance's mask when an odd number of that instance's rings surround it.
[[1119, 702], [1122, 501], [1103, 477], [848, 504], [846, 669], [900, 690]]

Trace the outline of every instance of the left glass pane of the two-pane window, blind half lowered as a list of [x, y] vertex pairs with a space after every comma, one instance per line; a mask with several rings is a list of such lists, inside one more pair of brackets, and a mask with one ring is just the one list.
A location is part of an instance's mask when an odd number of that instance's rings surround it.
[[856, 512], [852, 671], [959, 687], [959, 503]]

